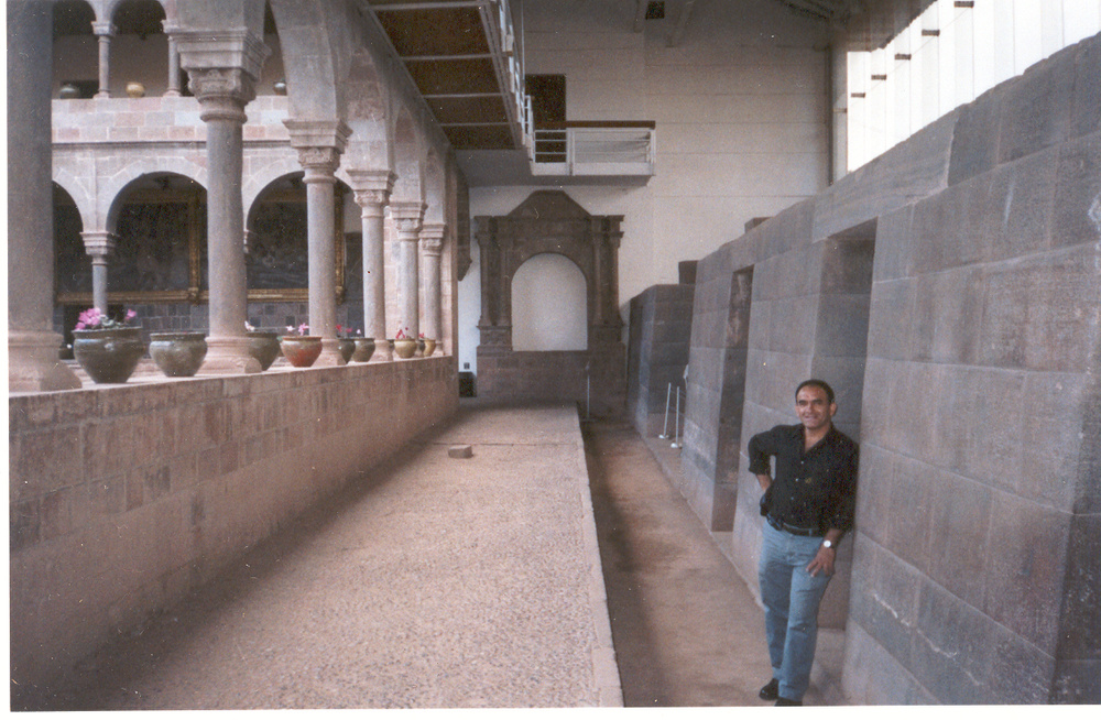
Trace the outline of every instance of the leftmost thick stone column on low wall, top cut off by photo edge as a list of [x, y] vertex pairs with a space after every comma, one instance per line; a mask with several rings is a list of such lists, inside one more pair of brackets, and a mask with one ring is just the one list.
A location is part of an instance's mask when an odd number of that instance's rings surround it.
[[53, 330], [53, 6], [8, 3], [8, 392], [80, 386]]

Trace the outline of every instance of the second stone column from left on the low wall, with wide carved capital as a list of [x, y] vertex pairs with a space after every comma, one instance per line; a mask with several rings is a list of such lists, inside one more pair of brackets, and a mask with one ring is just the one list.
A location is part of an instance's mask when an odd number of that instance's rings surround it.
[[207, 259], [210, 330], [203, 373], [260, 372], [244, 323], [244, 209], [241, 196], [244, 106], [270, 52], [247, 31], [177, 31], [181, 65], [207, 127]]

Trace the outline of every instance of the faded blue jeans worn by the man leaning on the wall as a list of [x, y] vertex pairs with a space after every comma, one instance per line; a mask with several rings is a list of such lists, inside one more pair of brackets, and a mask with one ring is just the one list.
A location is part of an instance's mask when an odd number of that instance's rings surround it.
[[772, 676], [780, 680], [780, 697], [802, 700], [810, 685], [818, 641], [818, 603], [830, 579], [824, 572], [807, 572], [822, 538], [793, 535], [767, 522], [763, 525], [757, 579]]

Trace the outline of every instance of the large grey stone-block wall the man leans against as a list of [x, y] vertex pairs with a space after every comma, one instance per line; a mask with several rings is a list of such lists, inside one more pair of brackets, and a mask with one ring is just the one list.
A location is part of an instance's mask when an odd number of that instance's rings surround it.
[[853, 701], [1101, 701], [1099, 98], [1101, 36], [699, 263], [685, 494], [705, 522], [734, 506], [754, 591], [748, 438], [796, 423], [794, 388], [817, 375], [861, 443], [857, 530], [819, 618], [846, 629]]

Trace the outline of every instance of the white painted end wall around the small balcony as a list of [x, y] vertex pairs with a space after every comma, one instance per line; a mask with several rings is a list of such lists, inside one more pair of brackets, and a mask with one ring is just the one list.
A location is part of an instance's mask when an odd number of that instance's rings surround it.
[[[524, 0], [528, 74], [566, 75], [569, 120], [657, 123], [656, 175], [644, 187], [567, 185], [592, 215], [622, 215], [620, 307], [677, 282], [699, 260], [826, 185], [825, 28], [773, 0], [696, 2], [684, 37], [668, 46], [680, 2], [633, 31], [624, 0]], [[545, 188], [545, 186], [543, 186]], [[538, 187], [470, 188], [471, 217], [505, 215]], [[471, 269], [473, 271], [473, 269]], [[460, 368], [475, 368], [480, 304], [471, 272], [460, 283]], [[476, 301], [470, 295], [479, 295]]]

